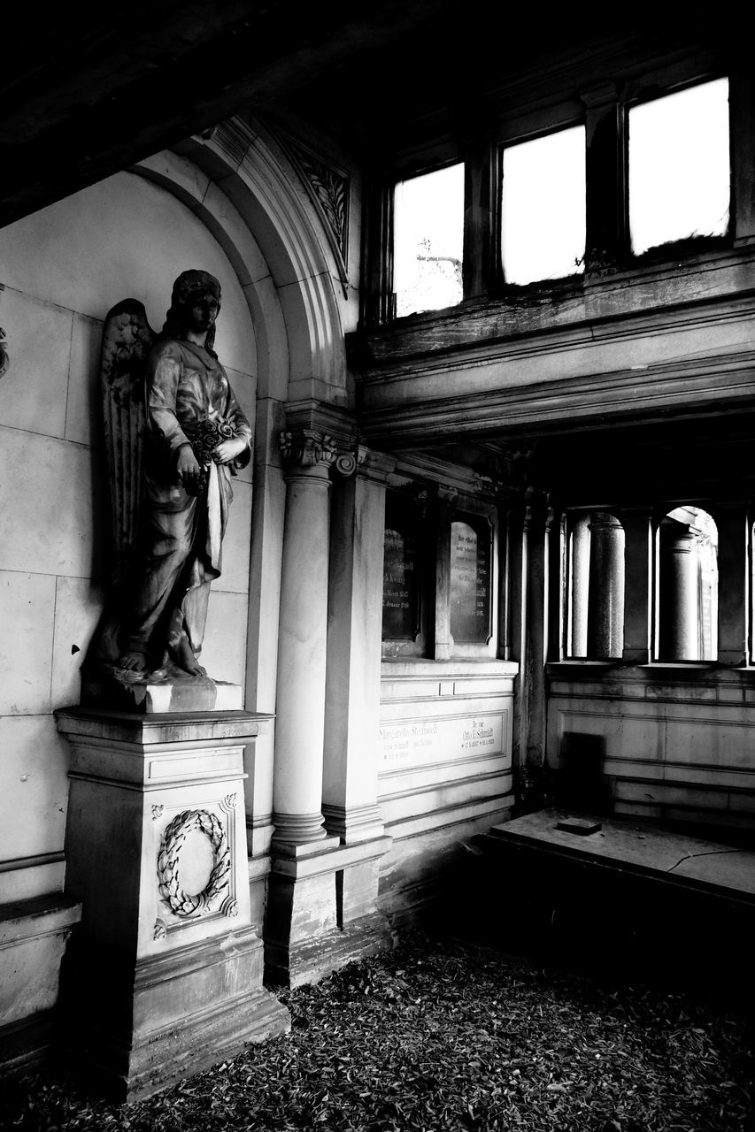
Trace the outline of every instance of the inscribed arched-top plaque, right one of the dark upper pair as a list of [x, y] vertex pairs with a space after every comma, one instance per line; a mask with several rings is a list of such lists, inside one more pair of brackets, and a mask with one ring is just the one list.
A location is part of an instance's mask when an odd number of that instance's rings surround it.
[[482, 515], [451, 523], [451, 635], [457, 644], [490, 640], [492, 530]]

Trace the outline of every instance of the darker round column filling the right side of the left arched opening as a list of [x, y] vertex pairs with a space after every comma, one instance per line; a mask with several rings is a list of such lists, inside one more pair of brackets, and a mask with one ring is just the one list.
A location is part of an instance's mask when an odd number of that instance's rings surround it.
[[623, 653], [623, 528], [605, 512], [589, 516], [589, 609], [587, 655], [591, 660]]

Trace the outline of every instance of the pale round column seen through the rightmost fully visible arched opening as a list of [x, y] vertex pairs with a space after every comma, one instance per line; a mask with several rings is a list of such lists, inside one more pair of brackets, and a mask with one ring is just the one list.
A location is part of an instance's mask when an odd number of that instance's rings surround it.
[[698, 660], [697, 555], [686, 523], [661, 523], [660, 660]]

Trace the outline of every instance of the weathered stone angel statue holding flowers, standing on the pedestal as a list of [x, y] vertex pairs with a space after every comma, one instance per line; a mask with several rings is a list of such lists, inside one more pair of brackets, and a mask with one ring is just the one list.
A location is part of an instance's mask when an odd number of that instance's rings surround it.
[[210, 583], [220, 576], [231, 477], [252, 429], [213, 350], [220, 284], [183, 272], [155, 334], [144, 306], [109, 312], [102, 345], [113, 573], [87, 655], [121, 684], [205, 677]]

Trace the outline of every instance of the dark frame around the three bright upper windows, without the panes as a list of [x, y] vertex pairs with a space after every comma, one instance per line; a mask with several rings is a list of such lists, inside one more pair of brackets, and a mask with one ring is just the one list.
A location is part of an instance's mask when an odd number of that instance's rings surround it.
[[[713, 51], [689, 54], [628, 70], [616, 83], [585, 87], [577, 96], [559, 96], [537, 109], [515, 108], [487, 110], [487, 119], [473, 125], [469, 137], [449, 139], [426, 146], [421, 154], [406, 152], [388, 162], [378, 178], [368, 206], [368, 230], [365, 243], [365, 289], [362, 326], [374, 331], [382, 326], [397, 329], [409, 320], [432, 323], [461, 314], [470, 305], [516, 301], [526, 302], [532, 295], [536, 303], [545, 293], [578, 293], [606, 275], [642, 269], [647, 263], [662, 264], [679, 257], [727, 249], [736, 245], [738, 214], [747, 215], [747, 201], [737, 195], [737, 161], [747, 160], [746, 139], [737, 140], [735, 98], [740, 76]], [[724, 235], [694, 235], [679, 243], [662, 245], [639, 255], [631, 252], [629, 237], [628, 160], [629, 111], [641, 103], [652, 102], [694, 86], [726, 78], [729, 83], [729, 222]], [[584, 271], [559, 280], [507, 283], [503, 277], [501, 249], [502, 165], [506, 148], [557, 134], [572, 126], [586, 130], [585, 163], [586, 247]], [[596, 143], [600, 132], [600, 140]], [[737, 146], [743, 153], [737, 157]], [[463, 162], [465, 166], [463, 298], [453, 307], [396, 316], [392, 278], [393, 222], [392, 199], [400, 181], [431, 173]]]

